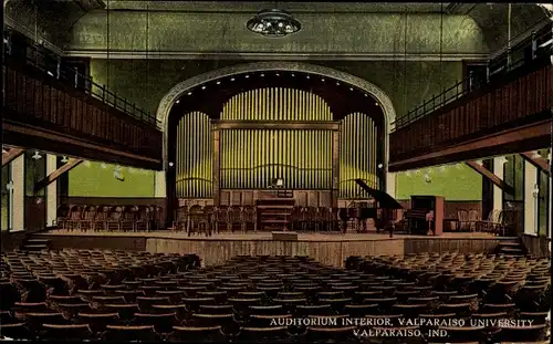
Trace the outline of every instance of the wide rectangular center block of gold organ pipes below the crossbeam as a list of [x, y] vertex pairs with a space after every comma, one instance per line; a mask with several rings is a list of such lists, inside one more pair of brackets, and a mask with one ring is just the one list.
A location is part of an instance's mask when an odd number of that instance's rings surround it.
[[223, 189], [264, 189], [281, 178], [285, 188], [332, 188], [332, 132], [225, 129], [220, 179]]

